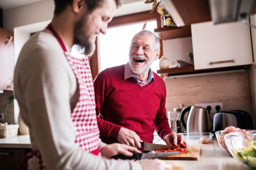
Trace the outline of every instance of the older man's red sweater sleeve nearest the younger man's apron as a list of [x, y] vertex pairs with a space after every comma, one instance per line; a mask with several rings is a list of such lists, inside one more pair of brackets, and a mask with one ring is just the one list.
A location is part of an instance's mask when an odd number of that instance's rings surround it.
[[122, 126], [113, 124], [112, 122], [108, 122], [104, 120], [104, 118], [100, 117], [100, 110], [102, 110], [102, 107], [108, 99], [109, 90], [107, 78], [104, 72], [99, 73], [95, 78], [94, 90], [96, 113], [98, 115], [97, 122], [100, 130], [100, 137], [105, 139], [109, 137], [117, 139], [118, 132], [120, 131]]

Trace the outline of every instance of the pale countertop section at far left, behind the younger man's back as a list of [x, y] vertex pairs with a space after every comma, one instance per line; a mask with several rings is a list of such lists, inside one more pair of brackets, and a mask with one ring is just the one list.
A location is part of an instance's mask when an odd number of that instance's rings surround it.
[[29, 135], [0, 138], [0, 148], [32, 148]]

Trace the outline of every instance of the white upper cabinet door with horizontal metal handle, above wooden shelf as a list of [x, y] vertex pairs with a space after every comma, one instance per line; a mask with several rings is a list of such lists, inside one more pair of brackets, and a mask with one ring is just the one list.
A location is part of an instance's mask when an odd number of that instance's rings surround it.
[[191, 25], [195, 69], [252, 64], [250, 26], [243, 22]]

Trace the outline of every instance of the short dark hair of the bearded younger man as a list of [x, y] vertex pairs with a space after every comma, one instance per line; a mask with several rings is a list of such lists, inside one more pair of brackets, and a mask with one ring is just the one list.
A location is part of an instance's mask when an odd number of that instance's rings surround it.
[[[91, 13], [95, 8], [99, 7], [104, 0], [84, 0], [87, 4], [88, 13]], [[69, 4], [72, 4], [73, 0], [54, 0], [55, 8], [54, 15], [59, 15]], [[121, 6], [120, 0], [115, 0], [116, 7]]]

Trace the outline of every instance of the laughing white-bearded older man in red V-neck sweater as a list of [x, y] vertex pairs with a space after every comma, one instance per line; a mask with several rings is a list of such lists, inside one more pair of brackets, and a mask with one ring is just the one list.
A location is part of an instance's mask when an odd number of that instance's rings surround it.
[[[133, 38], [129, 63], [99, 73], [94, 81], [100, 138], [106, 143], [141, 147], [156, 129], [168, 145], [183, 144], [166, 118], [166, 87], [150, 66], [160, 55], [159, 38], [140, 31]], [[179, 138], [179, 139], [178, 139]]]

